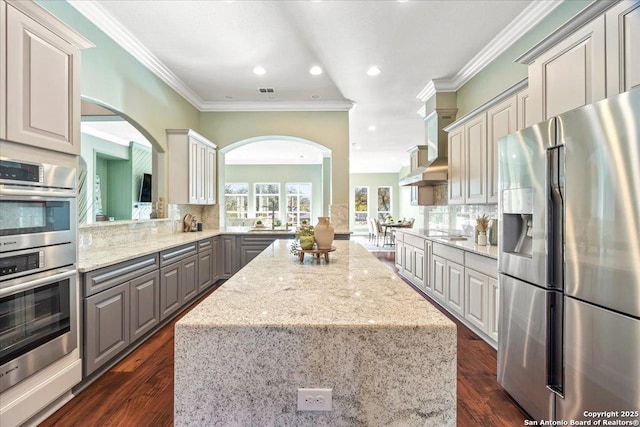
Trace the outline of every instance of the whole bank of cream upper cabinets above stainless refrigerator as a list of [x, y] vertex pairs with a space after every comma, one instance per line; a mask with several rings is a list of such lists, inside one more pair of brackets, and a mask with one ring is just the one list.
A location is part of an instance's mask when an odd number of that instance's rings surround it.
[[593, 2], [517, 59], [529, 65], [527, 124], [640, 85], [640, 3]]

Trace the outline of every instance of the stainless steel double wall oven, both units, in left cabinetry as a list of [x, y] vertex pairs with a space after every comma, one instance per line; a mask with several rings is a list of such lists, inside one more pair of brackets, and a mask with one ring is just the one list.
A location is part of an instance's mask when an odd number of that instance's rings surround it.
[[76, 172], [0, 157], [0, 392], [77, 347]]

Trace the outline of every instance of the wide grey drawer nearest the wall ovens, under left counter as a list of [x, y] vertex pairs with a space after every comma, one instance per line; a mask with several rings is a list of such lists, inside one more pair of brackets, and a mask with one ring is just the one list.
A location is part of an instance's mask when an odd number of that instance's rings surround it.
[[91, 271], [84, 275], [83, 296], [95, 295], [122, 282], [157, 270], [158, 267], [158, 254], [153, 254]]

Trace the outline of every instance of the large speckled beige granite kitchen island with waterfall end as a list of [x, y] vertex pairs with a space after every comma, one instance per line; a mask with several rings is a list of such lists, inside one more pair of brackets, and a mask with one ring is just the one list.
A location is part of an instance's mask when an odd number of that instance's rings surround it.
[[[455, 425], [455, 324], [333, 244], [301, 263], [276, 240], [176, 324], [176, 426]], [[298, 388], [332, 389], [332, 410], [298, 411]]]

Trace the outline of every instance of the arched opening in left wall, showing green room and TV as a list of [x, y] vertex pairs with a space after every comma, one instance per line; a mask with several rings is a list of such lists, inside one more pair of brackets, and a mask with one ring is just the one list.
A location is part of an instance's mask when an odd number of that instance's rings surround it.
[[163, 149], [133, 118], [82, 97], [78, 218], [95, 221], [149, 219], [163, 193]]

